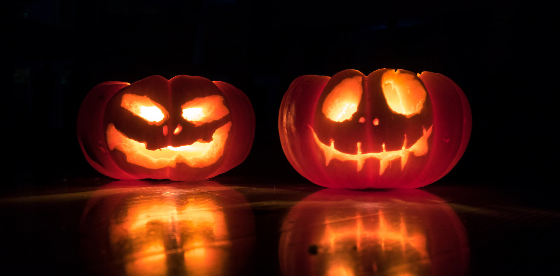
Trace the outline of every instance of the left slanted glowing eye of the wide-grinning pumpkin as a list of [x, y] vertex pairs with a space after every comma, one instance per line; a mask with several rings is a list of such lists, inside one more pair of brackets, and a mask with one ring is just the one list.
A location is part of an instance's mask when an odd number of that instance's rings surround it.
[[124, 94], [120, 106], [146, 120], [151, 125], [160, 125], [167, 117], [165, 108], [150, 100], [147, 96]]

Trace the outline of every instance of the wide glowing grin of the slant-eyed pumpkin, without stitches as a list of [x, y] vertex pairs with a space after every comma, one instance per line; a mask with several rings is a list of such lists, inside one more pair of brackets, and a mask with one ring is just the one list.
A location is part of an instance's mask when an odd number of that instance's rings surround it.
[[189, 167], [202, 168], [213, 165], [222, 157], [227, 134], [231, 129], [231, 121], [216, 129], [212, 134], [212, 141], [202, 141], [180, 147], [165, 147], [155, 150], [146, 149], [146, 143], [128, 138], [115, 128], [114, 124], [107, 127], [107, 143], [109, 149], [117, 149], [127, 156], [127, 162], [146, 167], [161, 169], [175, 167], [177, 163], [185, 163]]

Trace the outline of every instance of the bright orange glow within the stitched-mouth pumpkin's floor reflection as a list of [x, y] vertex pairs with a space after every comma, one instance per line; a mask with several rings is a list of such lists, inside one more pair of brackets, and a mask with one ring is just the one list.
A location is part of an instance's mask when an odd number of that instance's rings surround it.
[[318, 242], [325, 258], [319, 270], [329, 276], [361, 275], [357, 262], [371, 259], [374, 272], [377, 266], [383, 265], [390, 266], [390, 271], [385, 271], [390, 275], [404, 276], [416, 275], [416, 271], [409, 271], [411, 258], [416, 267], [430, 265], [425, 233], [411, 228], [402, 214], [394, 212], [386, 214], [380, 210], [377, 216], [364, 217], [357, 212], [351, 217], [325, 218], [324, 232]]

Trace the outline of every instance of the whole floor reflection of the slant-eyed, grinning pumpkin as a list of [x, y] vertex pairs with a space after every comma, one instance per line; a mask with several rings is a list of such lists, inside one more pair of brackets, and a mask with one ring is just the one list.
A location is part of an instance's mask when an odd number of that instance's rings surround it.
[[82, 230], [104, 275], [237, 274], [254, 244], [246, 200], [213, 181], [116, 181], [90, 199]]

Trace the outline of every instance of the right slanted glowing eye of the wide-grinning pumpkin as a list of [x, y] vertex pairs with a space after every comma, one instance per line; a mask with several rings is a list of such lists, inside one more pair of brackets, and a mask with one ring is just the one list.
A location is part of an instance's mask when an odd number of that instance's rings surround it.
[[220, 119], [230, 113], [223, 105], [223, 97], [220, 95], [195, 98], [181, 105], [181, 109], [183, 109], [183, 118], [196, 126]]

